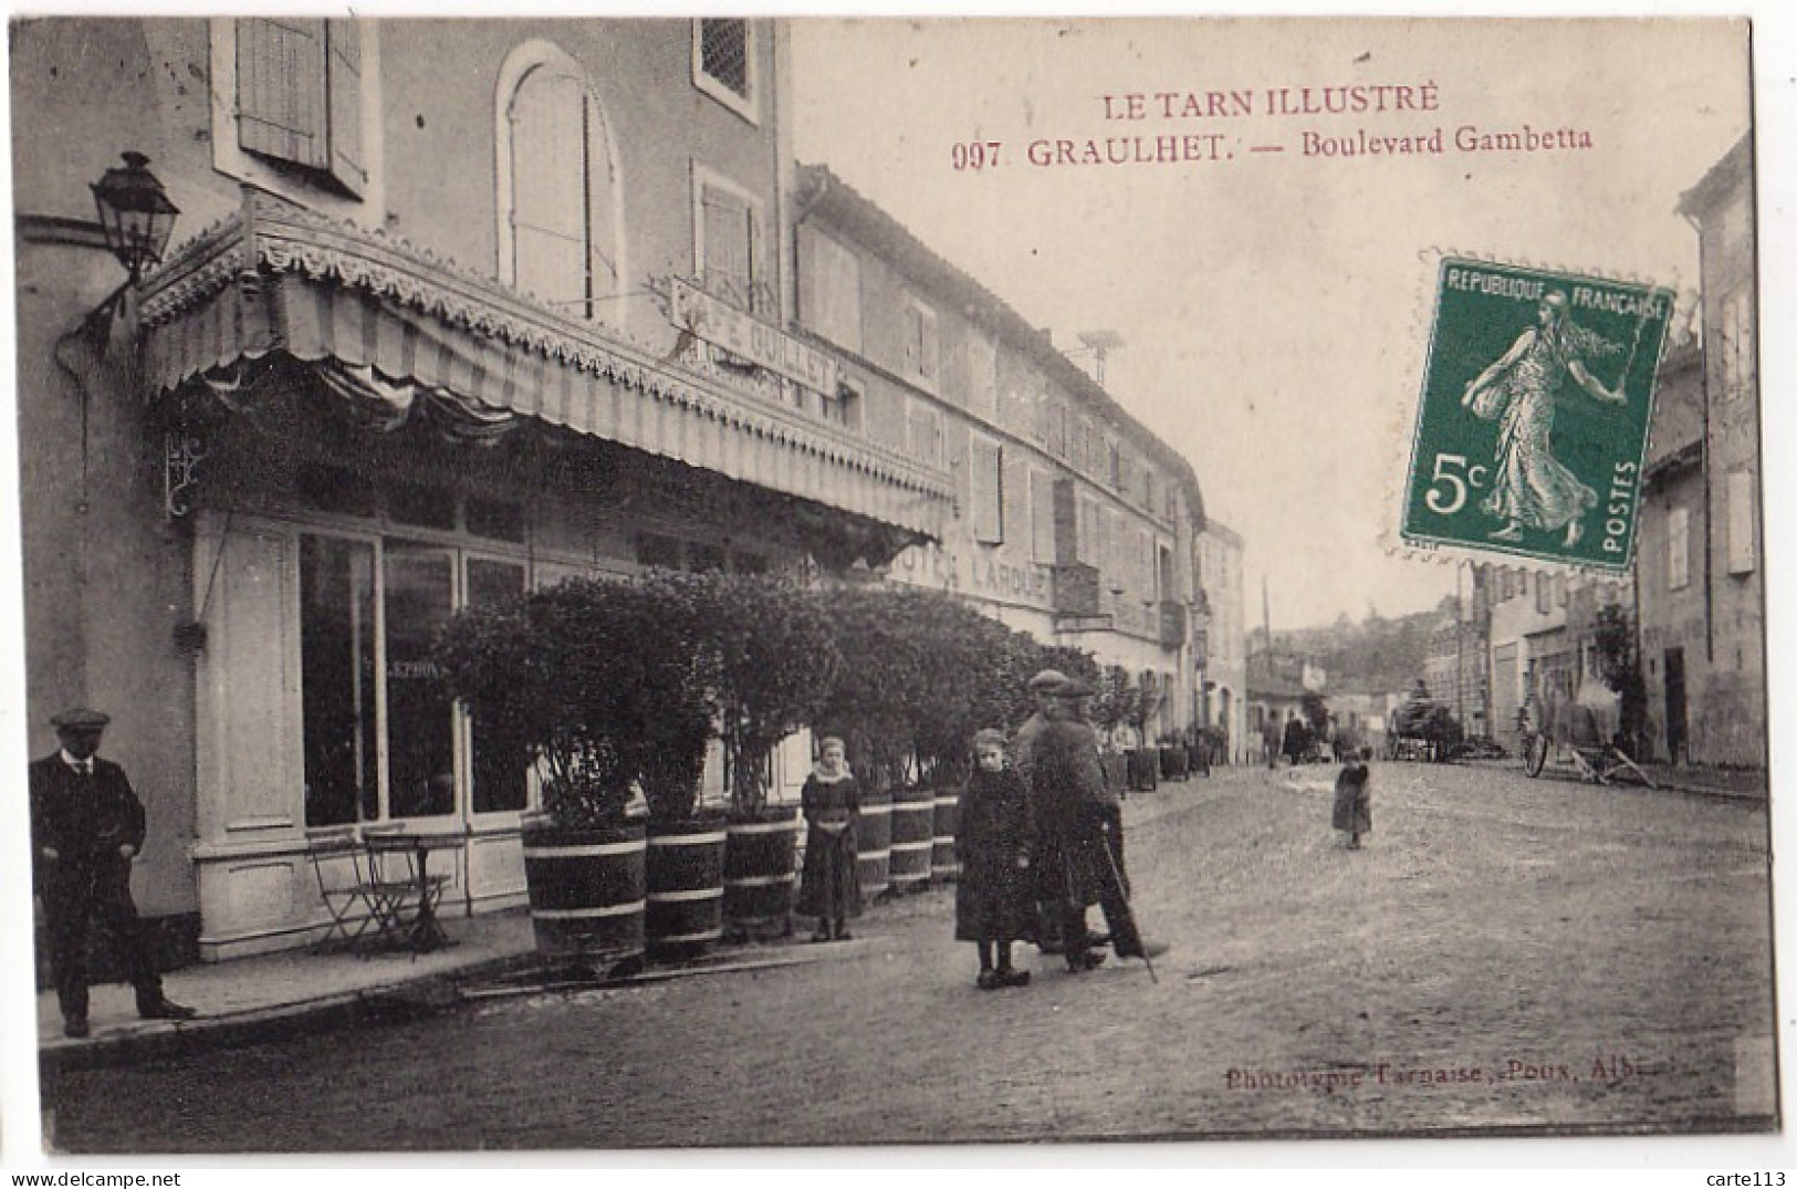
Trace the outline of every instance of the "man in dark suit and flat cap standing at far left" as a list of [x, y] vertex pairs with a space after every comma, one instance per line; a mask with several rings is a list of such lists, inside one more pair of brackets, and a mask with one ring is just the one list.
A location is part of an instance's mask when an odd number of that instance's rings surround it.
[[190, 1020], [196, 1013], [162, 993], [149, 961], [131, 860], [144, 848], [144, 803], [124, 769], [95, 753], [111, 722], [97, 709], [66, 709], [50, 720], [61, 751], [31, 763], [32, 884], [50, 932], [50, 970], [63, 1008], [63, 1033], [88, 1035], [88, 923], [115, 939], [146, 1020]]

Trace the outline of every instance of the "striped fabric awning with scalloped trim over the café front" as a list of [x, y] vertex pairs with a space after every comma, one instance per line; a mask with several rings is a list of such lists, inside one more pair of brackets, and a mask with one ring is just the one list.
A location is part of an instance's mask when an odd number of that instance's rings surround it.
[[473, 436], [536, 418], [925, 539], [952, 508], [945, 471], [266, 194], [151, 275], [138, 314], [151, 399], [282, 354], [374, 426], [420, 408]]

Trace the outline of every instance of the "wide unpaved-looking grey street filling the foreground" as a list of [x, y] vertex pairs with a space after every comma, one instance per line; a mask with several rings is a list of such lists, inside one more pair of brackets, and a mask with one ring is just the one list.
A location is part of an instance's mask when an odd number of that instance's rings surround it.
[[70, 1151], [1768, 1130], [1765, 805], [1378, 763], [1127, 803], [1157, 963], [981, 993], [951, 893], [836, 961], [66, 1074]]

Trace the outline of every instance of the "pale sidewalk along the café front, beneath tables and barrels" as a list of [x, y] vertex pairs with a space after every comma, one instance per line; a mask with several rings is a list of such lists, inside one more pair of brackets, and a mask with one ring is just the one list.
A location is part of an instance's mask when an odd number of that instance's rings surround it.
[[[199, 1011], [198, 1018], [183, 1022], [140, 1020], [129, 986], [99, 984], [92, 990], [88, 1015], [93, 1035], [84, 1040], [63, 1036], [56, 993], [40, 991], [40, 1063], [45, 1072], [135, 1063], [408, 1017], [462, 1002], [469, 984], [492, 984], [537, 968], [525, 909], [446, 918], [444, 929], [453, 945], [431, 954], [300, 948], [173, 970], [162, 977], [169, 999]], [[825, 961], [861, 948], [854, 941], [715, 947], [688, 963], [652, 964], [636, 981]]]

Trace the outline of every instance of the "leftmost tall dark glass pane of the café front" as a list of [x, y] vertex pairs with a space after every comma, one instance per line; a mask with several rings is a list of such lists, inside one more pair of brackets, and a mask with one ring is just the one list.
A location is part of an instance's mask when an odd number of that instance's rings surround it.
[[379, 817], [374, 546], [300, 537], [305, 824]]

